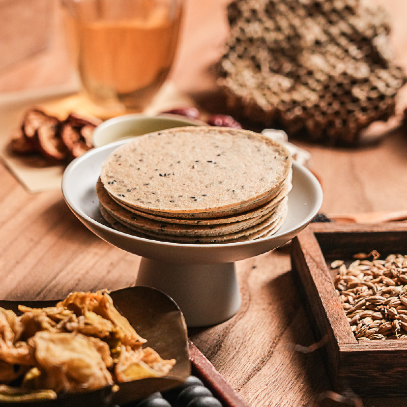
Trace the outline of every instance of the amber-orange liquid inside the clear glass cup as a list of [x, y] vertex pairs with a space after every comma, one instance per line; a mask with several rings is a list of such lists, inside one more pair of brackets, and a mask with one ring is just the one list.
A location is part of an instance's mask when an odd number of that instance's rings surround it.
[[182, 11], [144, 4], [140, 16], [69, 21], [79, 76], [96, 103], [143, 109], [168, 75]]

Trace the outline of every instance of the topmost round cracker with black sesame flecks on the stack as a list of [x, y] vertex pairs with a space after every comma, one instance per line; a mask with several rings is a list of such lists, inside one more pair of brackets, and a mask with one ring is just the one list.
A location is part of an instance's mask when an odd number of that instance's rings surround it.
[[112, 198], [170, 217], [245, 212], [276, 196], [292, 159], [278, 142], [240, 129], [184, 127], [140, 136], [104, 162]]

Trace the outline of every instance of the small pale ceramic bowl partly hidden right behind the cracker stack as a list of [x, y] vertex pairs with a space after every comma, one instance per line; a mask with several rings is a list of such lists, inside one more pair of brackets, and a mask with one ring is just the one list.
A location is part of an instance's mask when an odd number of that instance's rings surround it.
[[207, 126], [196, 119], [189, 119], [178, 114], [159, 114], [149, 116], [141, 113], [124, 114], [106, 120], [98, 126], [92, 136], [93, 145], [102, 147], [114, 141], [141, 136], [153, 131], [185, 126]]

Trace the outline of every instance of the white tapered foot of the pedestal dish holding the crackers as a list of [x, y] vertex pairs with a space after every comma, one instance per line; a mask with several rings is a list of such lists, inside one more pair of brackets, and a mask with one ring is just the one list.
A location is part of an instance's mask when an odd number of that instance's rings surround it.
[[190, 328], [220, 324], [235, 315], [241, 304], [235, 263], [171, 264], [142, 257], [136, 285], [170, 296]]

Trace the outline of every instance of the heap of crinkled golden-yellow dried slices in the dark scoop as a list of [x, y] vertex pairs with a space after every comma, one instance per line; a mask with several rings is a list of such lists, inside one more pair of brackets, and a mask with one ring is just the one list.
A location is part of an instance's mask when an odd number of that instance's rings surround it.
[[[71, 293], [54, 307], [0, 308], [0, 402], [52, 399], [57, 393], [167, 374], [163, 360], [113, 306], [107, 290]], [[115, 391], [115, 390], [114, 390]]]

